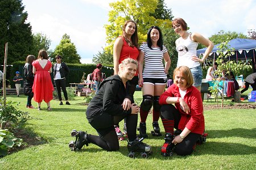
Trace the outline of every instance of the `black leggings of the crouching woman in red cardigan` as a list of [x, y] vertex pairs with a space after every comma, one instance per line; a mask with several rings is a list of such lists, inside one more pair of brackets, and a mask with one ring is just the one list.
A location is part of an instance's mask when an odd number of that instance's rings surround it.
[[[180, 113], [172, 104], [162, 105], [161, 118], [166, 120], [174, 120], [174, 128], [177, 130], [180, 121]], [[175, 152], [177, 155], [190, 155], [193, 152], [193, 146], [199, 139], [200, 134], [189, 133], [182, 142], [177, 143], [175, 146]]]

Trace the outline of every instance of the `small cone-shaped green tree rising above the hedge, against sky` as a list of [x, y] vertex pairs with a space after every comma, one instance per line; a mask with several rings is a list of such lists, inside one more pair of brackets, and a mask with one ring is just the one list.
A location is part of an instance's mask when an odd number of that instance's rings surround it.
[[73, 42], [71, 42], [71, 39], [67, 33], [62, 36], [60, 44], [56, 46], [51, 58], [54, 58], [57, 54], [63, 58], [63, 62], [81, 63], [81, 57], [79, 54], [77, 54], [76, 46]]

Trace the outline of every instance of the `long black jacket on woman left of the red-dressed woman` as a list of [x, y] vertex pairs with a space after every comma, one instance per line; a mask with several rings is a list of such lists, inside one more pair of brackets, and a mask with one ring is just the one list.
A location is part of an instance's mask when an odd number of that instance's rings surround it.
[[33, 66], [30, 63], [26, 63], [23, 67], [23, 73], [24, 73], [23, 93], [26, 96], [33, 95], [32, 86], [34, 84], [34, 74], [33, 74], [32, 68]]

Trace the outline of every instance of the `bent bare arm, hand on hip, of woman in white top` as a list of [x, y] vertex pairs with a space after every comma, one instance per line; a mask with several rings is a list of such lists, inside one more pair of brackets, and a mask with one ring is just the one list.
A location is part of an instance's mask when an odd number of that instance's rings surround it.
[[[197, 59], [197, 61], [203, 63], [205, 61], [205, 59], [207, 59], [209, 57], [210, 52], [212, 52], [213, 43], [209, 39], [205, 39], [205, 37], [203, 37], [202, 35], [200, 35], [199, 33], [196, 33], [196, 32], [192, 33], [191, 39], [192, 39], [192, 41], [199, 42], [200, 44], [207, 46], [207, 50], [205, 50], [203, 58]], [[192, 60], [195, 61], [195, 59], [192, 59]]]

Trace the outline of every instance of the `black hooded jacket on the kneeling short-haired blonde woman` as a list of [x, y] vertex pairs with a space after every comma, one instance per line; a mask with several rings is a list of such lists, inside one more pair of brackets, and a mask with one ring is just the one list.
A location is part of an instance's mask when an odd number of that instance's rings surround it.
[[[129, 82], [126, 83], [126, 87], [129, 88]], [[106, 78], [100, 84], [100, 90], [90, 101], [88, 108], [86, 109], [86, 118], [89, 122], [93, 121], [94, 117], [98, 117], [101, 114], [115, 115], [127, 115], [131, 113], [131, 108], [128, 111], [123, 110], [122, 103], [125, 98], [133, 100], [133, 97], [127, 92], [122, 79], [119, 75], [113, 75]]]

